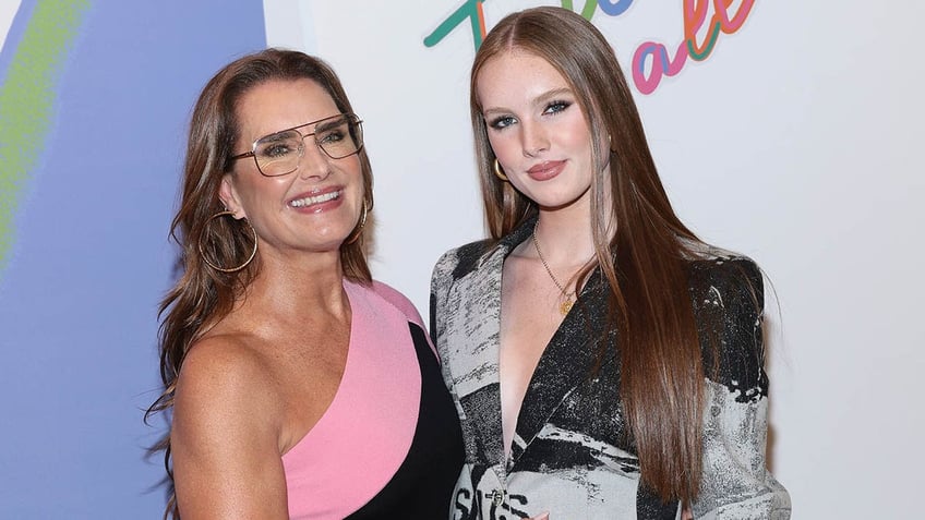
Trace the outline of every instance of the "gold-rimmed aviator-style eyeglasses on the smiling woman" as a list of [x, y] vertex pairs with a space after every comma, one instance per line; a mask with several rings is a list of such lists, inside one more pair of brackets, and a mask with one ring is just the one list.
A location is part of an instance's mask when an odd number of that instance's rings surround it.
[[[305, 154], [305, 137], [314, 142], [332, 159], [343, 159], [363, 148], [363, 121], [356, 113], [338, 113], [329, 118], [280, 130], [254, 141], [251, 152], [238, 154], [231, 160], [253, 157], [257, 170], [266, 177], [292, 173]], [[314, 132], [299, 130], [314, 125]]]

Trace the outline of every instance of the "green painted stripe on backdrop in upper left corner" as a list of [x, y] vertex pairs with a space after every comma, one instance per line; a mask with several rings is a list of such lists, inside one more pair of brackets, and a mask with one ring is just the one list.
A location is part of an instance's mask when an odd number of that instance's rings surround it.
[[0, 274], [9, 262], [20, 195], [53, 116], [56, 82], [89, 0], [39, 0], [0, 85]]

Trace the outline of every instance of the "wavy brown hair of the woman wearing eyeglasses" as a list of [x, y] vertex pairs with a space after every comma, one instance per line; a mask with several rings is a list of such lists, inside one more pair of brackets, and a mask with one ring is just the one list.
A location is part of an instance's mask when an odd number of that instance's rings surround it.
[[[224, 209], [218, 198], [221, 178], [231, 171], [230, 157], [240, 137], [236, 113], [241, 97], [251, 88], [271, 80], [311, 80], [324, 88], [340, 112], [352, 112], [350, 101], [334, 71], [322, 60], [298, 51], [266, 49], [240, 58], [213, 76], [203, 88], [193, 109], [180, 209], [170, 227], [170, 235], [181, 246], [183, 274], [160, 304], [160, 378], [164, 391], [145, 413], [145, 421], [156, 412], [173, 407], [173, 390], [180, 367], [190, 347], [231, 311], [236, 298], [254, 279], [260, 269], [260, 255], [245, 268], [223, 273], [209, 267], [200, 254], [207, 249], [213, 263], [221, 266], [242, 264], [252, 251], [253, 234], [245, 223], [211, 217]], [[372, 168], [365, 148], [359, 152], [363, 177], [363, 199], [373, 207]], [[217, 223], [220, 222], [220, 223]], [[358, 225], [360, 226], [360, 225]], [[355, 229], [355, 233], [362, 228]], [[370, 283], [365, 256], [365, 237], [340, 246], [344, 276]], [[170, 433], [152, 451], [164, 450], [164, 462], [170, 480], [167, 515], [179, 518], [172, 493]]]

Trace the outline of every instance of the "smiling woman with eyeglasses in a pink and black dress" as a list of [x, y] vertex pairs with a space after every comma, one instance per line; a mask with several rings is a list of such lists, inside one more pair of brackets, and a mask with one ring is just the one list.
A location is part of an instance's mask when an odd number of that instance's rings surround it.
[[167, 515], [445, 518], [459, 423], [413, 305], [371, 278], [362, 125], [335, 73], [269, 49], [195, 105], [164, 300]]

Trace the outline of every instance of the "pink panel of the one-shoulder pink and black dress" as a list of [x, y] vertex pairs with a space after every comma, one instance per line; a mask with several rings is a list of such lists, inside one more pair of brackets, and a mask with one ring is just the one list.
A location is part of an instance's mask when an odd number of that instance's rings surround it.
[[418, 422], [421, 373], [407, 310], [377, 294], [387, 286], [344, 287], [352, 310], [344, 377], [319, 423], [283, 456], [293, 519], [343, 519], [362, 507], [405, 460]]

